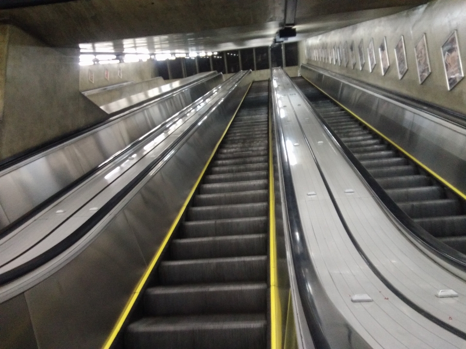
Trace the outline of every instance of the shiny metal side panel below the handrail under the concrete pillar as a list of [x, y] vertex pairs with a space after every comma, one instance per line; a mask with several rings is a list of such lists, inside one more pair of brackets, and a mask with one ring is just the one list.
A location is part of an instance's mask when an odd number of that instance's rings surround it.
[[[161, 94], [160, 97], [155, 97], [146, 105], [113, 116], [75, 138], [2, 170], [0, 229], [33, 211], [38, 205], [47, 203], [49, 198], [60, 195], [84, 175], [106, 165], [123, 149], [137, 142], [154, 127], [163, 126], [170, 116], [214, 88], [221, 80], [221, 74], [209, 73], [202, 74], [200, 79], [191, 79], [187, 86], [179, 86], [175, 82], [168, 87], [155, 89]], [[131, 102], [128, 101], [126, 106], [131, 105], [128, 103]]]

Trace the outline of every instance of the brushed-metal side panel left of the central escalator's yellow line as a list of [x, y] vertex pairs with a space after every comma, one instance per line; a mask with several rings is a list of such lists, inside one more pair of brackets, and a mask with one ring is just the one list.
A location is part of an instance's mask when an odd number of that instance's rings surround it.
[[[182, 125], [176, 135], [161, 143], [173, 144], [121, 201], [109, 203], [114, 193], [108, 193], [100, 200], [104, 206], [89, 203], [88, 207], [106, 208], [108, 213], [89, 227], [73, 249], [0, 288], [2, 307], [16, 300], [15, 295], [24, 295], [25, 317], [31, 319], [34, 341], [40, 347], [102, 345], [103, 334], [115, 324], [245, 94], [250, 74], [240, 73], [237, 78], [222, 93], [220, 104], [209, 106], [195, 124]], [[180, 135], [182, 139], [176, 141]], [[12, 339], [11, 333], [6, 338]]]

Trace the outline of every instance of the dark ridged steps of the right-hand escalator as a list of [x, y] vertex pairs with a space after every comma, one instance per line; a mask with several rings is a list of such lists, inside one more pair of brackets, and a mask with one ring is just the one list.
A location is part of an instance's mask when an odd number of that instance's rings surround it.
[[466, 254], [464, 200], [308, 81], [293, 80], [393, 201], [434, 237]]

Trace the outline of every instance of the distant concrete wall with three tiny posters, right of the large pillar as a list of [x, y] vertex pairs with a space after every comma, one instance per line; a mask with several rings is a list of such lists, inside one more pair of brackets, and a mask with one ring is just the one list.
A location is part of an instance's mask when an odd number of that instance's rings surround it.
[[[118, 69], [121, 69], [121, 77], [118, 76]], [[108, 70], [108, 79], [105, 78], [105, 70]], [[89, 72], [93, 73], [94, 82], [89, 79]], [[155, 78], [156, 76], [155, 61], [153, 60], [133, 63], [83, 65], [80, 66], [79, 89], [80, 91], [87, 91], [126, 81], [141, 82]]]

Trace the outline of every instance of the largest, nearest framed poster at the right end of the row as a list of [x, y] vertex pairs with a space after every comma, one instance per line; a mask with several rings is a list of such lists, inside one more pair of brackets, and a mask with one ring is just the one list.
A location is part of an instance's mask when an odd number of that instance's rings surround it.
[[458, 33], [456, 31], [452, 32], [445, 44], [442, 45], [442, 57], [447, 87], [448, 90], [451, 90], [464, 77], [460, 48], [458, 47]]

